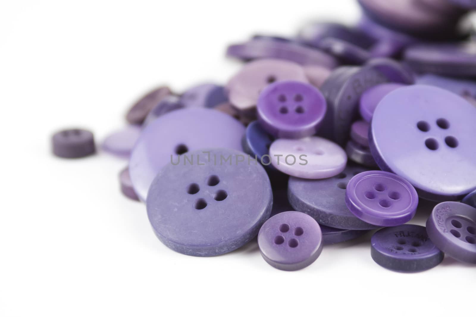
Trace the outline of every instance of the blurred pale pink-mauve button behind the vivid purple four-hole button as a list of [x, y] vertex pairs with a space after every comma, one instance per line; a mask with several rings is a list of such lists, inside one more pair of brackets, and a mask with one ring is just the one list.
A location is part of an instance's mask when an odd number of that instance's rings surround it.
[[304, 69], [280, 59], [261, 59], [246, 64], [226, 86], [231, 104], [239, 110], [256, 106], [261, 91], [274, 82], [294, 80], [308, 83]]

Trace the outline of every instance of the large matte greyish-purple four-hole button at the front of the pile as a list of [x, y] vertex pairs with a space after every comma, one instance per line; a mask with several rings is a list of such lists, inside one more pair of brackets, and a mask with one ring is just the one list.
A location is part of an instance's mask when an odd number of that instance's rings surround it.
[[179, 253], [209, 257], [255, 238], [273, 200], [263, 167], [229, 149], [189, 156], [193, 163], [169, 163], [150, 186], [147, 214], [159, 240]]

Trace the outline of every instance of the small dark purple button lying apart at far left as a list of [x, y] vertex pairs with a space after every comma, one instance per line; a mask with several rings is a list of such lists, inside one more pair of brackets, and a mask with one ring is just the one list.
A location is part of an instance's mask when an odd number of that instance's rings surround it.
[[82, 129], [67, 129], [51, 138], [53, 154], [62, 158], [79, 158], [96, 153], [92, 132]]

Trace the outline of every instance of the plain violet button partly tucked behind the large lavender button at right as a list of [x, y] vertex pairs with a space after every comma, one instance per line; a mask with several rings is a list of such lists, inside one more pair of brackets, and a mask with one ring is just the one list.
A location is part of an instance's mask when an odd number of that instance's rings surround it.
[[387, 96], [392, 91], [404, 86], [406, 85], [398, 83], [386, 83], [373, 86], [367, 89], [362, 94], [362, 96], [360, 96], [359, 110], [360, 115], [362, 115], [362, 118], [364, 118], [365, 121], [370, 123], [370, 121], [372, 120], [372, 115], [374, 115], [375, 108], [377, 108], [378, 103], [383, 99], [383, 97]]

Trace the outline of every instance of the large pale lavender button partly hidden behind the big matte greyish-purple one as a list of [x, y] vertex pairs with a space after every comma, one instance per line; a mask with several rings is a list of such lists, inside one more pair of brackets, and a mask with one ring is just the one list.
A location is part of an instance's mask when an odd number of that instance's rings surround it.
[[160, 116], [142, 131], [130, 156], [130, 178], [139, 198], [145, 201], [155, 175], [167, 163], [176, 163], [179, 155], [207, 147], [241, 150], [244, 133], [237, 120], [213, 109], [182, 109]]

